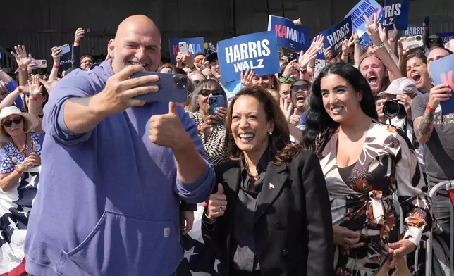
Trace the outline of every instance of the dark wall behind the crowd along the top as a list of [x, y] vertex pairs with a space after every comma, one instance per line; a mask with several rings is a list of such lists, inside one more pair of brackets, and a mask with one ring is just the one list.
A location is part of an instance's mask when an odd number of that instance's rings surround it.
[[[383, 0], [381, 0], [383, 1]], [[311, 37], [340, 21], [357, 0], [79, 0], [5, 1], [0, 3], [0, 46], [11, 51], [25, 44], [34, 58], [51, 61], [51, 47], [72, 44], [75, 29], [90, 28], [82, 39], [82, 54], [106, 54], [118, 23], [145, 14], [168, 39], [205, 37], [205, 42], [266, 30], [268, 15], [296, 19]], [[454, 32], [454, 0], [412, 0], [410, 23], [431, 17], [431, 33]]]

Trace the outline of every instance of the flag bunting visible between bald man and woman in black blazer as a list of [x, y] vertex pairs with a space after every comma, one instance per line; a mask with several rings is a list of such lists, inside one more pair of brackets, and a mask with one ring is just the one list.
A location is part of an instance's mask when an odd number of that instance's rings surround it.
[[197, 204], [192, 230], [182, 238], [183, 249], [185, 250], [183, 265], [189, 268], [192, 276], [217, 276], [219, 275], [219, 260], [216, 258], [213, 249], [204, 244], [202, 238], [203, 204]]

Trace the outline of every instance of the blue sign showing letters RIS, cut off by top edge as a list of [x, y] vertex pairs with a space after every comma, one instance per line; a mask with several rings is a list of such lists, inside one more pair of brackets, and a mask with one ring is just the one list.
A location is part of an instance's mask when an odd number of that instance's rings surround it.
[[385, 0], [384, 19], [381, 24], [386, 30], [407, 30], [410, 0]]

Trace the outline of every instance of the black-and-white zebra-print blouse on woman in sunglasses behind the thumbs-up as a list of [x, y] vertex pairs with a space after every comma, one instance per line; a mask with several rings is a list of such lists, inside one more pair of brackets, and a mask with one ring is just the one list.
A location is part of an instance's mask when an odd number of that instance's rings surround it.
[[[195, 125], [202, 125], [203, 119], [199, 111], [188, 112], [189, 117], [194, 120]], [[200, 139], [204, 146], [205, 155], [207, 159], [213, 163], [213, 165], [219, 165], [223, 161], [228, 160], [227, 158], [227, 146], [226, 146], [226, 128], [224, 125], [216, 125], [211, 129], [209, 134], [199, 133]]]

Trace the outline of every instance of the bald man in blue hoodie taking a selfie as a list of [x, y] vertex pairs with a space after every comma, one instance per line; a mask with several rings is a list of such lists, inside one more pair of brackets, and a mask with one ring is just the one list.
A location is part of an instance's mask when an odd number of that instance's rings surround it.
[[[75, 70], [44, 108], [42, 172], [27, 240], [32, 275], [174, 275], [183, 258], [178, 199], [214, 187], [194, 122], [157, 92], [161, 35], [144, 15], [126, 18], [111, 59]], [[161, 89], [166, 89], [161, 87]], [[165, 91], [164, 91], [165, 92]]]

